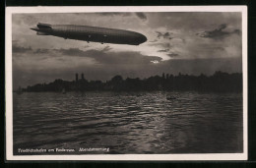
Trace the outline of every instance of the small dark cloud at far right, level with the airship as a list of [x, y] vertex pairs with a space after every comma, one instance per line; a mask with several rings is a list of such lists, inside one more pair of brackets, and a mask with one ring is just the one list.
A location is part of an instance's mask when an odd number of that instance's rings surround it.
[[205, 37], [205, 38], [213, 38], [213, 39], [223, 39], [226, 36], [229, 36], [230, 34], [236, 33], [240, 34], [239, 29], [234, 29], [232, 31], [225, 31], [224, 29], [226, 28], [226, 24], [222, 24], [219, 26], [219, 28], [216, 28], [214, 30], [205, 30], [203, 32], [198, 32], [196, 33], [200, 37]]

